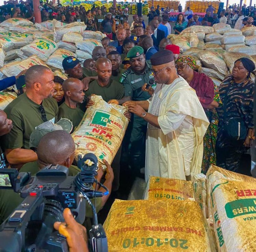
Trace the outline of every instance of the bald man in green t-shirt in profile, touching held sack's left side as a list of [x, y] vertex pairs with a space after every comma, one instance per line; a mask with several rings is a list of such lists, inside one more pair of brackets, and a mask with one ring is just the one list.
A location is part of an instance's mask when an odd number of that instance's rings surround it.
[[77, 106], [77, 103], [83, 103], [84, 84], [75, 78], [68, 78], [62, 84], [65, 102], [59, 106], [58, 119], [68, 118], [73, 123], [73, 130], [81, 122], [84, 112]]

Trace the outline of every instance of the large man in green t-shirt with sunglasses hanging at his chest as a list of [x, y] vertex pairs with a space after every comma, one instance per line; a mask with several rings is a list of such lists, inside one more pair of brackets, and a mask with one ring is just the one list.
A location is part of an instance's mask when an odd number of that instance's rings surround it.
[[25, 74], [26, 93], [14, 99], [4, 112], [13, 121], [10, 133], [1, 139], [1, 147], [12, 167], [37, 160], [37, 154], [29, 149], [31, 132], [45, 121], [55, 122], [58, 105], [51, 98], [54, 91], [52, 71], [41, 65], [30, 67]]

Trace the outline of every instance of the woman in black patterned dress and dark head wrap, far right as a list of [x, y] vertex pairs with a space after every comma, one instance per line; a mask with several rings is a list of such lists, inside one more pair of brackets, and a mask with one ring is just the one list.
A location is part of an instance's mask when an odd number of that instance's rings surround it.
[[[254, 139], [254, 84], [250, 77], [254, 70], [255, 65], [250, 59], [239, 58], [234, 62], [232, 74], [227, 75], [219, 86], [219, 96], [223, 105], [217, 108], [219, 116], [216, 142], [217, 165], [230, 171], [236, 171], [239, 168], [242, 153], [251, 146]], [[231, 120], [236, 124], [240, 123], [237, 131], [242, 132], [243, 128], [245, 139], [231, 137], [231, 123], [229, 123]]]

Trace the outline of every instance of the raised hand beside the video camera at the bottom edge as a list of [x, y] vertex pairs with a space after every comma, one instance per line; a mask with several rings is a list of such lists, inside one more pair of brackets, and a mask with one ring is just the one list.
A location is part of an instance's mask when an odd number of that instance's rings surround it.
[[86, 228], [77, 223], [69, 208], [63, 211], [66, 222], [55, 222], [54, 228], [67, 238], [70, 252], [89, 252]]

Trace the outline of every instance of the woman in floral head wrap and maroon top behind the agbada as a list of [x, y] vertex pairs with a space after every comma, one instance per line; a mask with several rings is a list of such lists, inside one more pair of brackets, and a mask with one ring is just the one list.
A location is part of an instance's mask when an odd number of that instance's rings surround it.
[[218, 115], [215, 110], [218, 107], [218, 88], [204, 73], [194, 71], [196, 60], [189, 55], [180, 56], [176, 60], [177, 72], [195, 89], [198, 99], [204, 108], [210, 125], [204, 135], [204, 153], [202, 172], [205, 174], [211, 164], [216, 164], [215, 143], [217, 137]]

